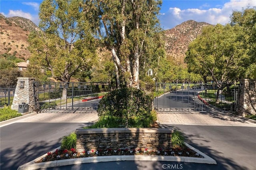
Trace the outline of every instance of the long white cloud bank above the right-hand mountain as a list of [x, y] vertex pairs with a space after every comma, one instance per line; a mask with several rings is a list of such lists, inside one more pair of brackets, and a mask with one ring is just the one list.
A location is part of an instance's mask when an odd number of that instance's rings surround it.
[[[165, 15], [160, 16], [162, 27], [171, 29], [187, 20], [195, 20], [197, 22], [208, 22], [209, 24], [227, 24], [230, 21], [230, 15], [233, 10], [241, 11], [242, 8], [256, 6], [255, 0], [230, 0], [220, 8], [201, 9], [185, 9], [169, 8]], [[199, 7], [200, 8], [200, 7]]]

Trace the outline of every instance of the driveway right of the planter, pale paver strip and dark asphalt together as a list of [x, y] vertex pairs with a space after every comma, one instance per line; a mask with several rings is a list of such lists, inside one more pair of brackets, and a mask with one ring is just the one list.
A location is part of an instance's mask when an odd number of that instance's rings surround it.
[[159, 113], [164, 127], [182, 130], [186, 141], [216, 160], [197, 169], [256, 170], [256, 124], [229, 113]]

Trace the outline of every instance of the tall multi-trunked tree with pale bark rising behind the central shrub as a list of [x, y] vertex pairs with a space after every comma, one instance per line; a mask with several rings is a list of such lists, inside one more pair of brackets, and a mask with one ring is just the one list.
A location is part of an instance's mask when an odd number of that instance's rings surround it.
[[[84, 0], [83, 14], [95, 37], [112, 53], [117, 83], [139, 88], [140, 65], [146, 67], [160, 32], [160, 0]], [[151, 53], [152, 54], [152, 53]]]

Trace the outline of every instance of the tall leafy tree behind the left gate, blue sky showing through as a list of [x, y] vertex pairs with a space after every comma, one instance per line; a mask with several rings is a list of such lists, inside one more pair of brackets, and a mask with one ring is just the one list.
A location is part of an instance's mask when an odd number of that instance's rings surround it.
[[28, 39], [30, 65], [50, 69], [52, 77], [63, 82], [96, 60], [95, 39], [81, 6], [82, 0], [44, 0], [39, 11], [43, 32]]

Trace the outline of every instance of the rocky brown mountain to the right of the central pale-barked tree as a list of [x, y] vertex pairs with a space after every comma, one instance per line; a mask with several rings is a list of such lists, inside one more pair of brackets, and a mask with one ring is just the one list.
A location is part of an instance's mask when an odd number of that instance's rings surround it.
[[204, 26], [208, 25], [210, 24], [206, 22], [188, 20], [170, 30], [165, 30], [165, 46], [168, 60], [173, 60], [178, 64], [184, 63], [189, 43], [202, 33]]

